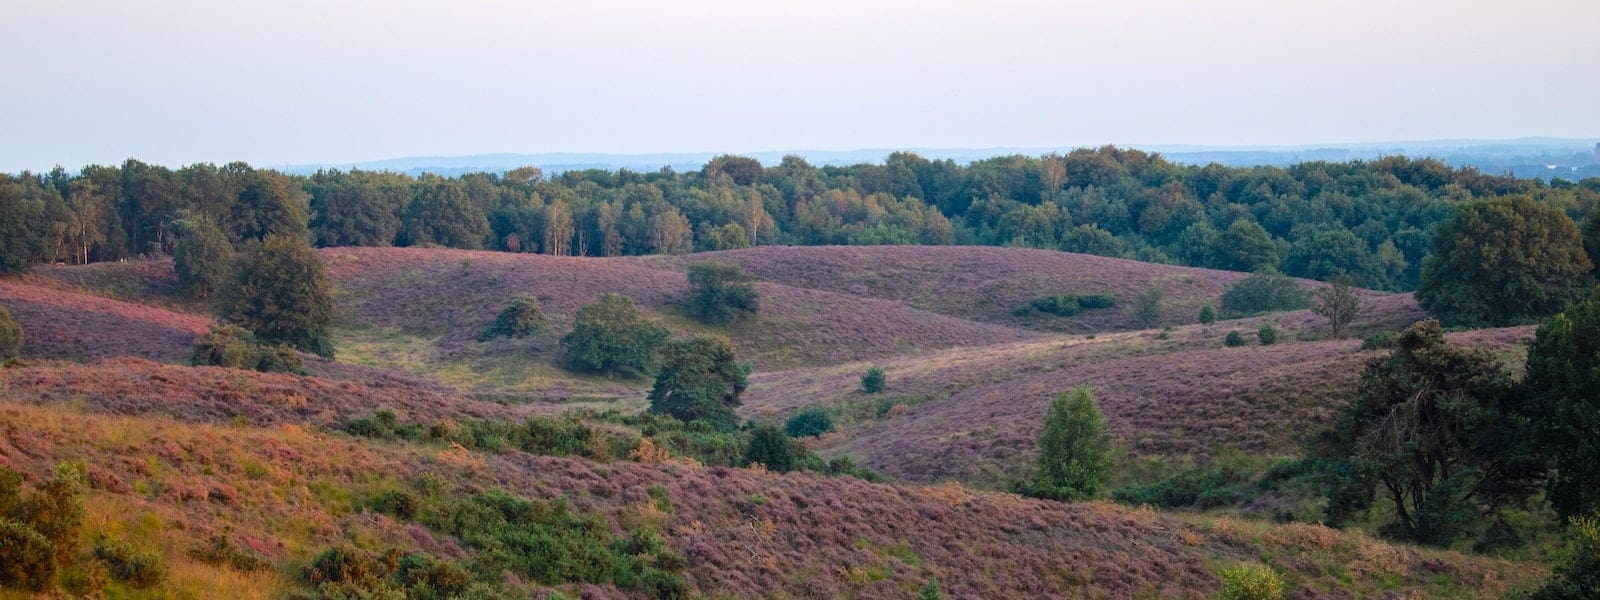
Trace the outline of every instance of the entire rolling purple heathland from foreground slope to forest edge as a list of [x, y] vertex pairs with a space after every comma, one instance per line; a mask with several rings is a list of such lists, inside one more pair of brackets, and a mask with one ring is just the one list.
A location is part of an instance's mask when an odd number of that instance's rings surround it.
[[[1118, 485], [1173, 470], [1160, 462], [1293, 454], [1382, 350], [1331, 339], [1309, 310], [1200, 325], [1200, 307], [1243, 274], [952, 246], [317, 256], [336, 291], [338, 354], [304, 357], [304, 374], [187, 366], [214, 306], [181, 298], [166, 261], [0, 280], [0, 306], [27, 336], [22, 360], [0, 370], [0, 467], [42, 482], [56, 464], [85, 466], [93, 534], [165, 565], [154, 590], [114, 581], [110, 592], [336, 592], [330, 549], [376, 570], [365, 584], [413, 597], [426, 579], [466, 597], [1206, 598], [1224, 568], [1266, 563], [1296, 598], [1490, 598], [1544, 573], [1259, 512], [1003, 491], [1030, 470], [1048, 400], [1080, 384], [1122, 448]], [[754, 277], [755, 317], [688, 317], [685, 270], [709, 259]], [[1134, 312], [1152, 286], [1154, 325]], [[603, 293], [634, 298], [675, 334], [728, 336], [754, 365], [739, 416], [826, 411], [834, 429], [805, 445], [818, 464], [854, 464], [739, 467], [746, 434], [637, 416], [646, 378], [560, 368], [558, 339]], [[478, 341], [518, 294], [539, 301], [546, 330]], [[1059, 294], [1114, 306], [1018, 310]], [[1410, 294], [1362, 298], [1360, 334], [1422, 317]], [[1254, 341], [1262, 325], [1270, 346]], [[1229, 331], [1251, 339], [1224, 346]], [[1515, 357], [1530, 336], [1454, 339]], [[885, 390], [861, 390], [869, 366]]]

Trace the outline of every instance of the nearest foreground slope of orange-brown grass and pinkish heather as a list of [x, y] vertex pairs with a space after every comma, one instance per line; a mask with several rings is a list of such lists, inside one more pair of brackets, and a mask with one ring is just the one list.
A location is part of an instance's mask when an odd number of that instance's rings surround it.
[[[205, 386], [214, 376], [166, 373], [182, 386]], [[69, 376], [61, 386], [70, 390], [88, 379], [96, 378]], [[235, 402], [270, 403], [266, 395]], [[59, 461], [86, 462], [91, 531], [163, 554], [171, 565], [163, 587], [181, 597], [278, 595], [293, 586], [299, 565], [338, 542], [464, 554], [450, 538], [360, 509], [422, 474], [464, 491], [502, 486], [565, 498], [616, 528], [656, 523], [688, 558], [690, 584], [707, 595], [912, 597], [938, 579], [950, 597], [1203, 598], [1218, 586], [1216, 568], [1266, 560], [1304, 597], [1334, 589], [1493, 597], [1538, 573], [1318, 526], [1186, 523], [1150, 510], [960, 486], [373, 443], [326, 435], [291, 422], [293, 416], [248, 427], [213, 422], [226, 414], [186, 421], [141, 414], [83, 413], [45, 397], [0, 403], [0, 466], [43, 477]], [[650, 502], [650, 485], [666, 488], [670, 512]], [[213, 534], [267, 555], [275, 570], [246, 574], [186, 557]], [[616, 597], [603, 587], [592, 592]]]

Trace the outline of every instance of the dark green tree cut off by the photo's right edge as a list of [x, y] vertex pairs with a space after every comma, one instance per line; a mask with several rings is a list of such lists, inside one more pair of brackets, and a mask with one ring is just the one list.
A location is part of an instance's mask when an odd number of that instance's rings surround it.
[[1600, 290], [1539, 326], [1523, 390], [1555, 466], [1550, 504], [1562, 517], [1600, 514]]

